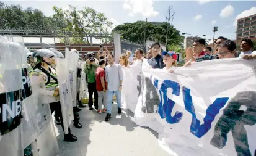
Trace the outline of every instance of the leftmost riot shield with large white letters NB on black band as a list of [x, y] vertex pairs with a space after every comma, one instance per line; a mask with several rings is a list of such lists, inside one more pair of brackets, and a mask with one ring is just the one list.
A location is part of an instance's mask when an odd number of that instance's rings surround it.
[[0, 151], [4, 156], [23, 156], [22, 73], [19, 52], [12, 55], [0, 36]]

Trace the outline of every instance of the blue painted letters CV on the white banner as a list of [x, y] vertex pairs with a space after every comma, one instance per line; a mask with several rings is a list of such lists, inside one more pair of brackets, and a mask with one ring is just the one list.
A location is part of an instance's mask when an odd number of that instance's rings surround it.
[[[152, 80], [152, 75], [150, 76]], [[159, 80], [154, 78], [154, 86], [158, 88]], [[161, 96], [158, 113], [161, 118], [166, 118], [167, 123], [174, 124], [179, 123], [182, 119], [182, 112], [175, 112], [174, 117], [172, 117], [171, 113], [174, 109], [175, 102], [172, 99], [167, 97], [167, 89], [172, 88], [172, 94], [175, 96], [180, 96], [180, 84], [172, 81], [172, 80], [164, 80], [161, 84], [161, 88], [159, 89], [159, 93]], [[183, 101], [185, 104], [185, 109], [192, 114], [192, 123], [190, 126], [190, 133], [195, 135], [198, 138], [204, 136], [210, 129], [211, 123], [214, 121], [214, 118], [219, 113], [219, 110], [224, 107], [224, 105], [229, 100], [228, 97], [217, 98], [213, 104], [209, 105], [206, 109], [206, 115], [203, 119], [204, 123], [200, 125], [200, 120], [196, 118], [195, 107], [193, 105], [193, 99], [190, 95], [190, 89], [183, 87]]]

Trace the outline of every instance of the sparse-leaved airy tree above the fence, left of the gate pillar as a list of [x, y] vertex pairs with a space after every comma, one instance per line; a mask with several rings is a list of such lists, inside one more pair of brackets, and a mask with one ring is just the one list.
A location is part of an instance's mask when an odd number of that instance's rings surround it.
[[[107, 34], [108, 28], [111, 28], [113, 24], [110, 20], [107, 20], [103, 13], [96, 12], [89, 7], [84, 7], [82, 10], [77, 10], [74, 6], [69, 6], [67, 10], [53, 7], [53, 10], [55, 11], [53, 19], [60, 30], [79, 35], [71, 38], [73, 43], [84, 43], [84, 41], [89, 43], [90, 34]], [[107, 38], [99, 39], [103, 42], [107, 40]]]

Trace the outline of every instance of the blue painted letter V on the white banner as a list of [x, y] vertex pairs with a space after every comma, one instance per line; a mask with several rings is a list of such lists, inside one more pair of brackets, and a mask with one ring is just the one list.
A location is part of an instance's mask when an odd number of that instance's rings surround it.
[[200, 125], [200, 121], [196, 118], [195, 107], [193, 105], [192, 96], [190, 95], [190, 89], [183, 87], [182, 91], [185, 109], [192, 114], [190, 132], [196, 137], [201, 138], [211, 129], [211, 123], [219, 113], [219, 110], [227, 103], [229, 98], [217, 98], [213, 104], [209, 105], [209, 107], [206, 109], [205, 118], [203, 118], [204, 123]]

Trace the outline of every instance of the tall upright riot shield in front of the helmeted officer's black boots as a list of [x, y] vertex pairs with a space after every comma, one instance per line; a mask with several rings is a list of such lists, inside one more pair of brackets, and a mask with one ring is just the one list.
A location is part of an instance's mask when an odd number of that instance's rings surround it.
[[64, 133], [68, 134], [68, 127], [74, 120], [73, 101], [69, 80], [68, 59], [56, 59], [56, 70], [63, 117]]

